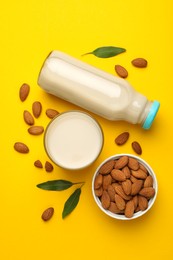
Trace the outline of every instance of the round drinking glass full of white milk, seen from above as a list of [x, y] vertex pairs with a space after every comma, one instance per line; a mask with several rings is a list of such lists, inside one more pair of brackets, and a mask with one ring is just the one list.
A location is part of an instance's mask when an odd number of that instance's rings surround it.
[[79, 170], [91, 165], [104, 142], [99, 123], [88, 113], [71, 110], [48, 124], [44, 146], [49, 158], [62, 168]]

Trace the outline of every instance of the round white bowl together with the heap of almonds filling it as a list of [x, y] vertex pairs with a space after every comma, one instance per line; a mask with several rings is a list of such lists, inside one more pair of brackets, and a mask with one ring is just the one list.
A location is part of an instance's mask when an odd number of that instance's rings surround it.
[[96, 204], [107, 215], [131, 220], [144, 215], [155, 202], [156, 175], [143, 159], [131, 154], [107, 158], [92, 180]]

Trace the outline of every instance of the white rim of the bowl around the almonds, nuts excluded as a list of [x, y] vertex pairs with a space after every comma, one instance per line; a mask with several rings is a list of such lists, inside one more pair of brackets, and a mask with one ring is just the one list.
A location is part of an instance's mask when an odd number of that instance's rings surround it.
[[[99, 169], [101, 168], [101, 166], [103, 164], [105, 164], [106, 162], [110, 161], [110, 160], [116, 160], [116, 159], [119, 159], [120, 157], [122, 156], [128, 156], [128, 157], [132, 157], [132, 158], [135, 158], [139, 161], [139, 163], [141, 163], [142, 165], [145, 166], [145, 168], [148, 170], [148, 173], [153, 177], [153, 188], [155, 189], [155, 195], [154, 197], [152, 197], [149, 201], [148, 201], [148, 208], [144, 211], [138, 211], [136, 213], [133, 214], [133, 216], [131, 218], [127, 218], [124, 214], [115, 214], [115, 213], [112, 213], [111, 211], [107, 210], [107, 209], [104, 209], [102, 207], [102, 204], [101, 204], [101, 201], [100, 201], [100, 198], [98, 196], [95, 195], [95, 192], [94, 192], [94, 182], [95, 182], [95, 178], [96, 176], [98, 175], [99, 173]], [[155, 202], [155, 199], [157, 197], [157, 192], [158, 192], [158, 183], [157, 183], [157, 179], [156, 179], [156, 175], [154, 173], [154, 171], [152, 170], [152, 168], [148, 165], [147, 162], [145, 162], [143, 159], [141, 159], [140, 157], [138, 156], [135, 156], [135, 155], [132, 155], [132, 154], [116, 154], [116, 155], [113, 155], [109, 158], [107, 158], [106, 160], [104, 160], [100, 165], [99, 167], [97, 168], [97, 170], [95, 171], [94, 173], [94, 176], [93, 176], [93, 180], [92, 180], [92, 193], [93, 193], [93, 197], [94, 197], [94, 200], [96, 202], [96, 204], [98, 205], [98, 207], [105, 213], [107, 214], [108, 216], [112, 217], [112, 218], [115, 218], [115, 219], [119, 219], [119, 220], [131, 220], [131, 219], [135, 219], [135, 218], [138, 218], [138, 217], [141, 217], [142, 215], [144, 215], [146, 212], [148, 212], [151, 207], [153, 206], [154, 202]]]

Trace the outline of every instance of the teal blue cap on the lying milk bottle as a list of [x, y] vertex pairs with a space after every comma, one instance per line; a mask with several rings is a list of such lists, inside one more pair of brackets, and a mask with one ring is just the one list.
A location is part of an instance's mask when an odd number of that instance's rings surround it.
[[150, 108], [150, 111], [147, 115], [147, 118], [145, 119], [145, 122], [142, 126], [142, 128], [144, 129], [149, 129], [154, 121], [154, 118], [159, 110], [159, 107], [160, 107], [160, 103], [158, 101], [154, 101], [151, 108]]

